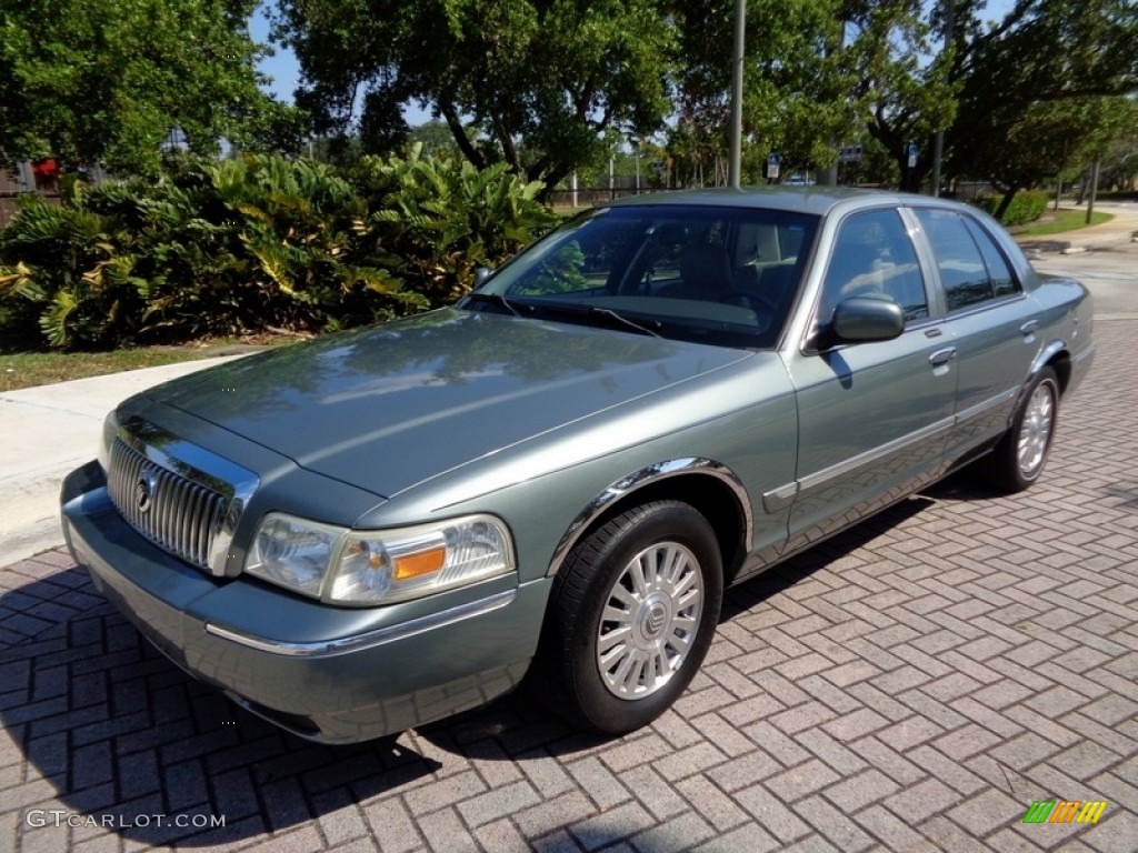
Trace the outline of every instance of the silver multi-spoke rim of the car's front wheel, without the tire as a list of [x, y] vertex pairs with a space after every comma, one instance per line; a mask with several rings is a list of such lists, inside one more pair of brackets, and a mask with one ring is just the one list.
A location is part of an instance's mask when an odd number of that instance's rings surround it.
[[649, 546], [609, 590], [597, 631], [596, 665], [609, 691], [640, 699], [683, 666], [703, 607], [695, 555], [678, 543]]

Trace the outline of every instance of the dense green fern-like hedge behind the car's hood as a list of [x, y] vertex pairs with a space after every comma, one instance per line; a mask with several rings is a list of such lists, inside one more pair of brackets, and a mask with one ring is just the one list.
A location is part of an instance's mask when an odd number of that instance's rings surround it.
[[505, 167], [247, 155], [38, 197], [0, 231], [0, 330], [52, 347], [319, 331], [452, 301], [552, 224]]

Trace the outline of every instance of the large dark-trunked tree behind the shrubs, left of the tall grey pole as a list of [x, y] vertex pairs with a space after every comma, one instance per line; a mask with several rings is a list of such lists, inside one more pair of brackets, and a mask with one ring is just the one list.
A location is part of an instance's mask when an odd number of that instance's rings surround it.
[[546, 187], [603, 156], [605, 130], [650, 133], [670, 108], [675, 28], [659, 0], [280, 0], [274, 32], [318, 132], [390, 150], [413, 100], [478, 168]]

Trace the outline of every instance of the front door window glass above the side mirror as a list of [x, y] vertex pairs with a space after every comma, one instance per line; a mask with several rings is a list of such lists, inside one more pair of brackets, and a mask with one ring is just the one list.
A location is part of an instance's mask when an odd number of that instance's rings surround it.
[[867, 210], [842, 222], [822, 285], [817, 324], [828, 325], [838, 304], [850, 297], [891, 299], [906, 320], [929, 316], [916, 251], [896, 210]]

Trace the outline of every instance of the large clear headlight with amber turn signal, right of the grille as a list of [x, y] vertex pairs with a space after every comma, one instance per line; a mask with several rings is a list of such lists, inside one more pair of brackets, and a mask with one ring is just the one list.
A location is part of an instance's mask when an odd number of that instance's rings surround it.
[[505, 525], [489, 515], [394, 530], [346, 530], [283, 513], [261, 522], [245, 571], [337, 604], [389, 604], [514, 569]]

